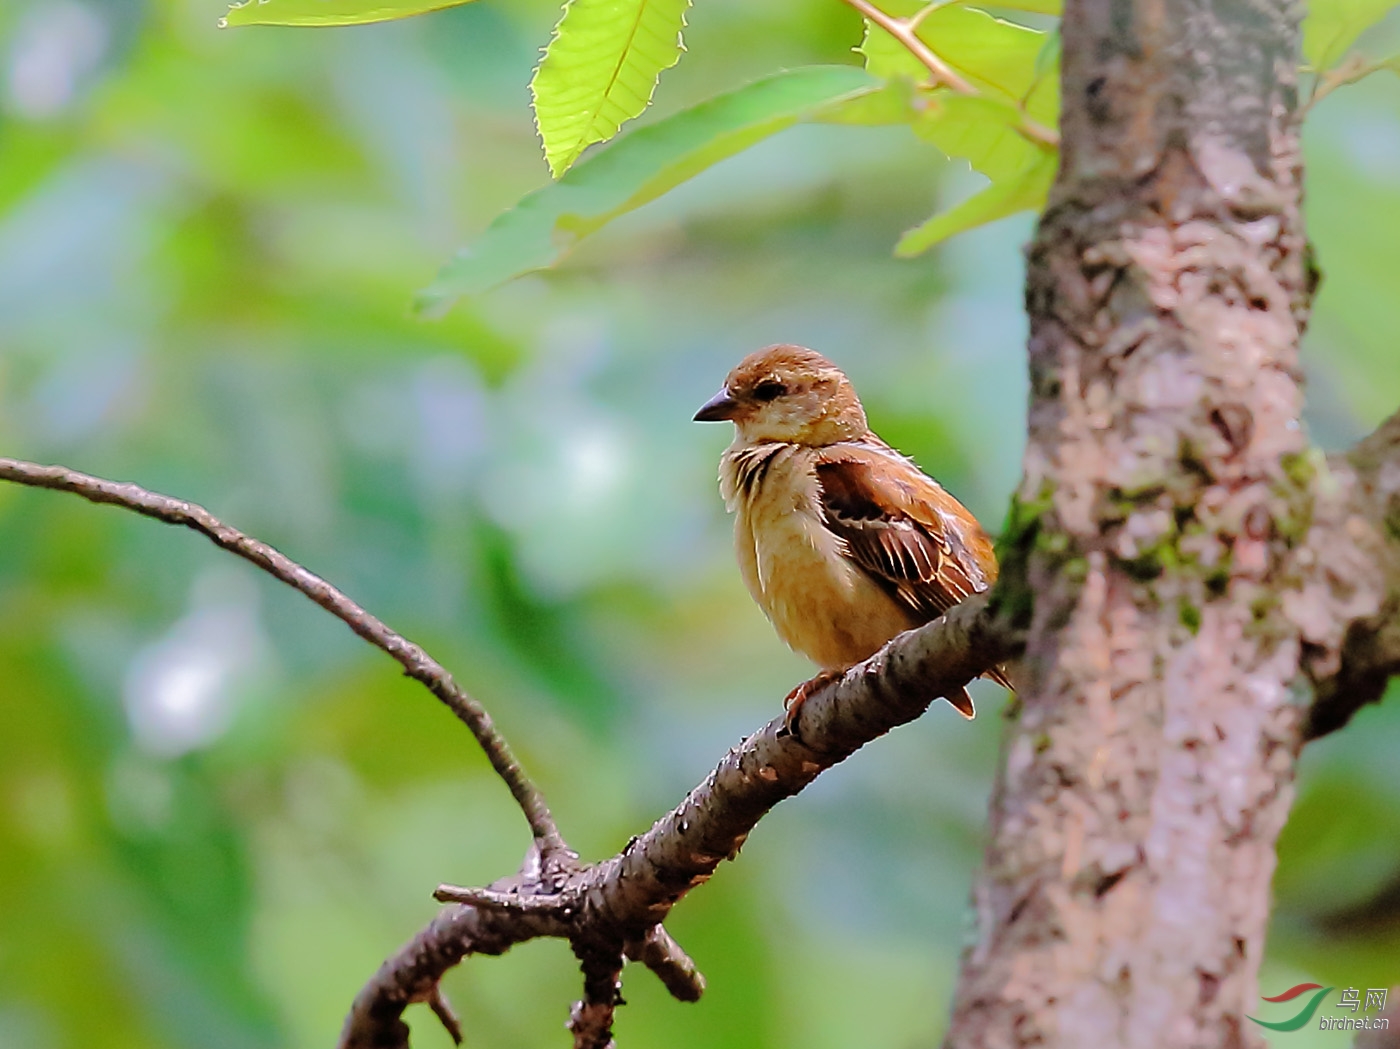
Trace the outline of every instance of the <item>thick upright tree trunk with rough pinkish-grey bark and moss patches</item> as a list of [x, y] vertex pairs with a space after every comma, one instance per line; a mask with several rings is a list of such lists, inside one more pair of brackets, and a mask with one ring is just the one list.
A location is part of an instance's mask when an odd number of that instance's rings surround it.
[[1303, 710], [1299, 7], [1067, 0], [1004, 552], [1030, 616], [948, 1046], [1242, 1046]]

